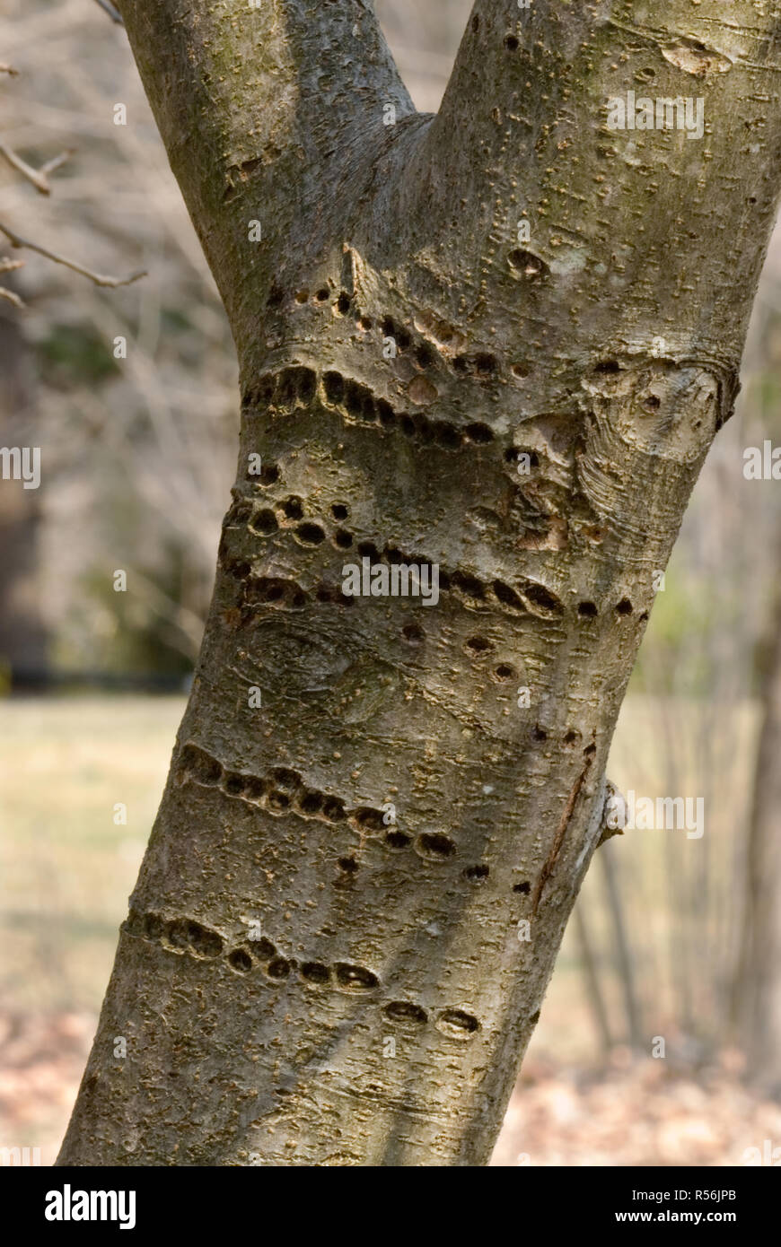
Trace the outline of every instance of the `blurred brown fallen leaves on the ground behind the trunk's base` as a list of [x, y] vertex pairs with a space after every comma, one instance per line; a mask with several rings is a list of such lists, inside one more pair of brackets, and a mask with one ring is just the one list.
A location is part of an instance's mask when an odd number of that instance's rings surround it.
[[[0, 1013], [0, 1147], [54, 1163], [96, 1020]], [[618, 1049], [601, 1070], [528, 1059], [492, 1165], [741, 1166], [779, 1146], [781, 1105], [745, 1086], [737, 1054], [695, 1070]]]

